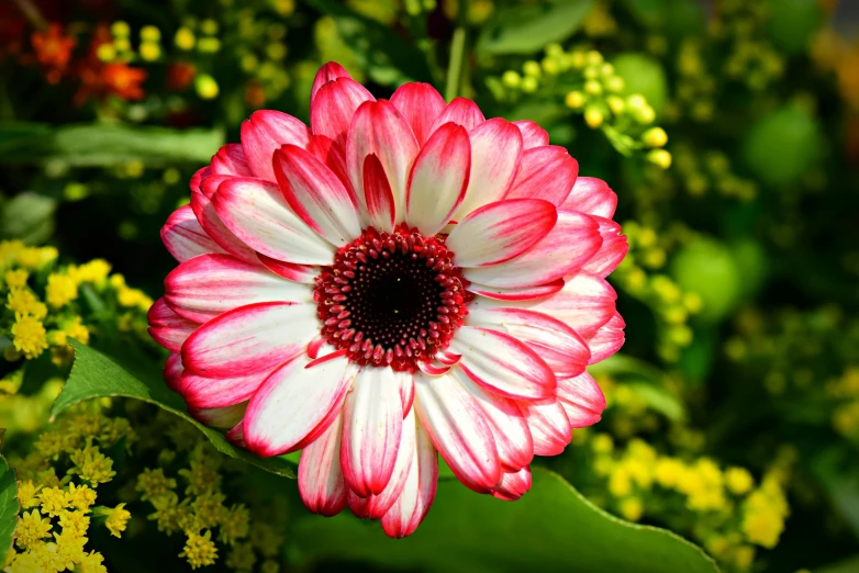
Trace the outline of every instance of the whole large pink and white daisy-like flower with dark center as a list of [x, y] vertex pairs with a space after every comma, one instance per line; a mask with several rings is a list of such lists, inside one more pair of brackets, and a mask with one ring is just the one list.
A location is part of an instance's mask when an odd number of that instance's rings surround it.
[[437, 452], [517, 499], [605, 406], [585, 368], [624, 340], [615, 194], [534, 122], [424, 83], [376, 100], [327, 64], [310, 123], [255, 112], [163, 227], [167, 384], [259, 456], [302, 450], [326, 516], [410, 535]]

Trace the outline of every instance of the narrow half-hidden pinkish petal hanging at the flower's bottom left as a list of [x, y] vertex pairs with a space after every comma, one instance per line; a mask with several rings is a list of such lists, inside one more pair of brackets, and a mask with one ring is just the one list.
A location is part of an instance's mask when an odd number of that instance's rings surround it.
[[301, 450], [299, 494], [314, 514], [331, 517], [346, 507], [346, 482], [341, 470], [343, 416], [337, 415], [325, 431]]

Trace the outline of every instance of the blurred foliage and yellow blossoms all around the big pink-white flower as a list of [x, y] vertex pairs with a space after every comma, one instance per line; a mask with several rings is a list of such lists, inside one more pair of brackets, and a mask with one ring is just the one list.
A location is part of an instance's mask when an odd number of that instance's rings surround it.
[[[725, 572], [859, 571], [857, 8], [0, 3], [5, 571], [713, 571], [565, 479]], [[603, 420], [516, 504], [443, 476], [400, 542], [310, 516], [290, 460], [267, 473], [175, 416], [145, 333], [191, 173], [256, 109], [306, 120], [327, 60], [377, 97], [428, 81], [537, 121], [617, 192], [632, 246]], [[124, 369], [79, 353], [68, 378], [70, 338]]]

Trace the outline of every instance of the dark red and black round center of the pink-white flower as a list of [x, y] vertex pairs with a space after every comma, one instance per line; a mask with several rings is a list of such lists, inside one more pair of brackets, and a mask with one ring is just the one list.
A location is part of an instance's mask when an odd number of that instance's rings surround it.
[[443, 239], [365, 229], [316, 278], [322, 336], [361, 366], [414, 371], [450, 344], [470, 295]]

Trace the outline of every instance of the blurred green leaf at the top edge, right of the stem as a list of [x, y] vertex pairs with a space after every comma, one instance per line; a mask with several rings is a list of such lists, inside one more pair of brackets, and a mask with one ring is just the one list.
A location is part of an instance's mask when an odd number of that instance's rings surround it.
[[481, 35], [477, 50], [486, 54], [533, 54], [561, 42], [578, 30], [593, 0], [560, 0], [547, 7], [514, 5], [499, 11]]

